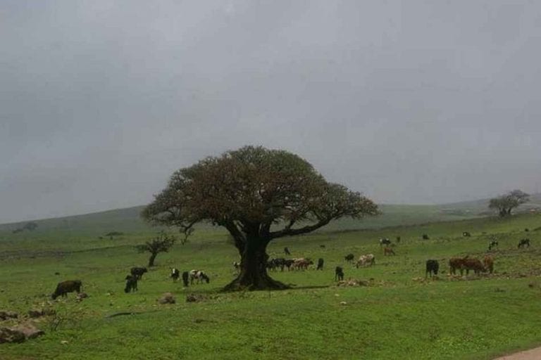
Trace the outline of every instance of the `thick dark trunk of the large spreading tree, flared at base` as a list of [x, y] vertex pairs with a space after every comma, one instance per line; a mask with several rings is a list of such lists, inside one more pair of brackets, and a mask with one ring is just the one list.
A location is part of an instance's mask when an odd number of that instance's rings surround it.
[[223, 288], [224, 291], [238, 290], [282, 290], [289, 286], [275, 281], [267, 274], [267, 243], [261, 239], [251, 240], [241, 253], [240, 274]]

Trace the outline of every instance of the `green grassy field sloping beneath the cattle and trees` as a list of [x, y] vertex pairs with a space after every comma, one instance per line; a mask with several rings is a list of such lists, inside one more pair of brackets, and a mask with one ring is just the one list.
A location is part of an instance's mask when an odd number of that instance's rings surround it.
[[[272, 276], [292, 289], [253, 293], [220, 293], [234, 276], [231, 264], [238, 256], [219, 229], [203, 227], [186, 245], [158, 255], [157, 266], [131, 294], [123, 293], [123, 279], [131, 266], [147, 262], [133, 245], [153, 230], [130, 227], [129, 221], [124, 228], [110, 225], [115, 229], [4, 229], [0, 309], [26, 314], [52, 307], [58, 315], [39, 321], [44, 336], [0, 345], [0, 359], [492, 359], [541, 344], [541, 231], [534, 231], [541, 215], [355, 231], [344, 224], [271, 243], [271, 257], [282, 256], [288, 246], [292, 257], [323, 257], [325, 269], [275, 271]], [[126, 233], [98, 238], [106, 228]], [[421, 240], [423, 233], [430, 240]], [[402, 237], [396, 256], [383, 257], [377, 244], [383, 236]], [[499, 250], [492, 252], [495, 274], [447, 276], [449, 257], [482, 257], [491, 236], [499, 239]], [[533, 246], [518, 250], [525, 236]], [[349, 252], [372, 252], [376, 264], [356, 269], [344, 263]], [[442, 274], [433, 281], [424, 281], [426, 259], [440, 261]], [[346, 278], [368, 286], [336, 286], [337, 265], [344, 266]], [[168, 278], [172, 266], [204, 269], [211, 283], [182, 288]], [[50, 302], [58, 281], [75, 278], [82, 280], [87, 299], [76, 302], [70, 294]], [[176, 304], [156, 302], [166, 292]], [[192, 293], [202, 300], [185, 302]], [[137, 314], [108, 317], [123, 311]]]

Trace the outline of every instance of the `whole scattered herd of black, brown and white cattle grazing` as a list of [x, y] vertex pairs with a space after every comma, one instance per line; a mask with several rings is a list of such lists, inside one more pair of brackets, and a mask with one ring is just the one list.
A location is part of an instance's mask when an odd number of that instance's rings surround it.
[[[462, 236], [464, 237], [470, 237], [471, 233], [464, 231], [462, 233]], [[427, 234], [423, 234], [423, 239], [428, 239]], [[400, 242], [400, 237], [397, 236], [397, 243]], [[379, 240], [380, 247], [385, 246], [383, 248], [383, 255], [396, 255], [392, 247], [394, 244], [391, 240], [388, 238], [380, 238]], [[325, 248], [325, 245], [320, 245], [321, 248]], [[496, 239], [492, 239], [488, 245], [488, 250], [492, 250], [498, 247], [498, 241]], [[529, 238], [523, 238], [518, 242], [518, 248], [529, 248], [530, 247], [530, 239]], [[285, 255], [291, 255], [291, 252], [289, 248], [284, 248]], [[349, 262], [350, 264], [353, 263], [355, 256], [353, 254], [348, 254], [344, 257], [344, 259]], [[284, 269], [287, 268], [287, 270], [306, 270], [310, 265], [313, 264], [313, 261], [308, 258], [294, 258], [294, 259], [285, 259], [283, 257], [278, 257], [275, 259], [270, 259], [266, 263], [266, 268], [275, 271], [277, 269], [280, 269], [280, 271], [284, 271]], [[323, 258], [318, 259], [318, 264], [316, 267], [316, 270], [323, 270], [323, 264], [324, 260]], [[375, 255], [373, 254], [366, 254], [361, 255], [359, 259], [355, 262], [355, 266], [358, 269], [359, 266], [372, 266], [375, 264]], [[233, 262], [233, 266], [236, 271], [240, 270], [240, 262]], [[425, 263], [425, 278], [428, 278], [428, 276], [436, 276], [438, 271], [440, 270], [440, 263], [436, 259], [428, 259]], [[449, 274], [456, 275], [456, 271], [460, 271], [460, 275], [464, 275], [464, 271], [466, 271], [466, 275], [469, 274], [469, 271], [474, 271], [475, 274], [480, 274], [481, 272], [492, 272], [494, 271], [494, 259], [490, 255], [485, 255], [483, 258], [483, 261], [480, 259], [474, 258], [474, 257], [452, 257], [449, 259]], [[137, 281], [142, 279], [143, 274], [147, 272], [147, 268], [145, 267], [132, 267], [130, 269], [130, 274], [125, 277], [126, 285], [124, 288], [125, 293], [130, 293], [133, 291], [137, 291]], [[58, 274], [58, 273], [57, 273]], [[173, 278], [173, 281], [178, 281], [180, 278], [180, 271], [178, 269], [171, 269], [170, 272], [170, 278]], [[336, 266], [335, 267], [335, 281], [342, 281], [344, 280], [344, 269], [342, 266]], [[201, 283], [205, 281], [206, 283], [210, 282], [209, 276], [205, 274], [202, 270], [191, 270], [191, 271], [184, 271], [182, 272], [182, 283], [187, 287], [189, 284], [194, 283]], [[61, 283], [58, 283], [56, 285], [56, 289], [54, 290], [54, 293], [51, 295], [52, 299], [55, 300], [57, 297], [62, 296], [66, 297], [68, 293], [73, 293], [74, 291], [77, 292], [77, 294], [80, 293], [82, 288], [82, 281], [80, 280], [68, 280], [63, 281]]]

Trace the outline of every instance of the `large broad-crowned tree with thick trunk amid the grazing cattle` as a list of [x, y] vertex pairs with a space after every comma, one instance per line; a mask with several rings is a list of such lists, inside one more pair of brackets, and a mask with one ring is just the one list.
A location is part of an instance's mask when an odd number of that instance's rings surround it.
[[267, 274], [270, 241], [378, 213], [371, 200], [325, 181], [299, 156], [245, 146], [173, 173], [142, 216], [185, 234], [201, 221], [223, 226], [241, 258], [240, 274], [225, 290], [259, 290], [287, 288]]

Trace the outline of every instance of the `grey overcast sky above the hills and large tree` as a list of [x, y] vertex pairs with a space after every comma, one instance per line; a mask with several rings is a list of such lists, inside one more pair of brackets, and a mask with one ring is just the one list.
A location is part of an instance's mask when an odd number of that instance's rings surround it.
[[378, 203], [541, 191], [540, 1], [0, 1], [0, 223], [247, 144]]

